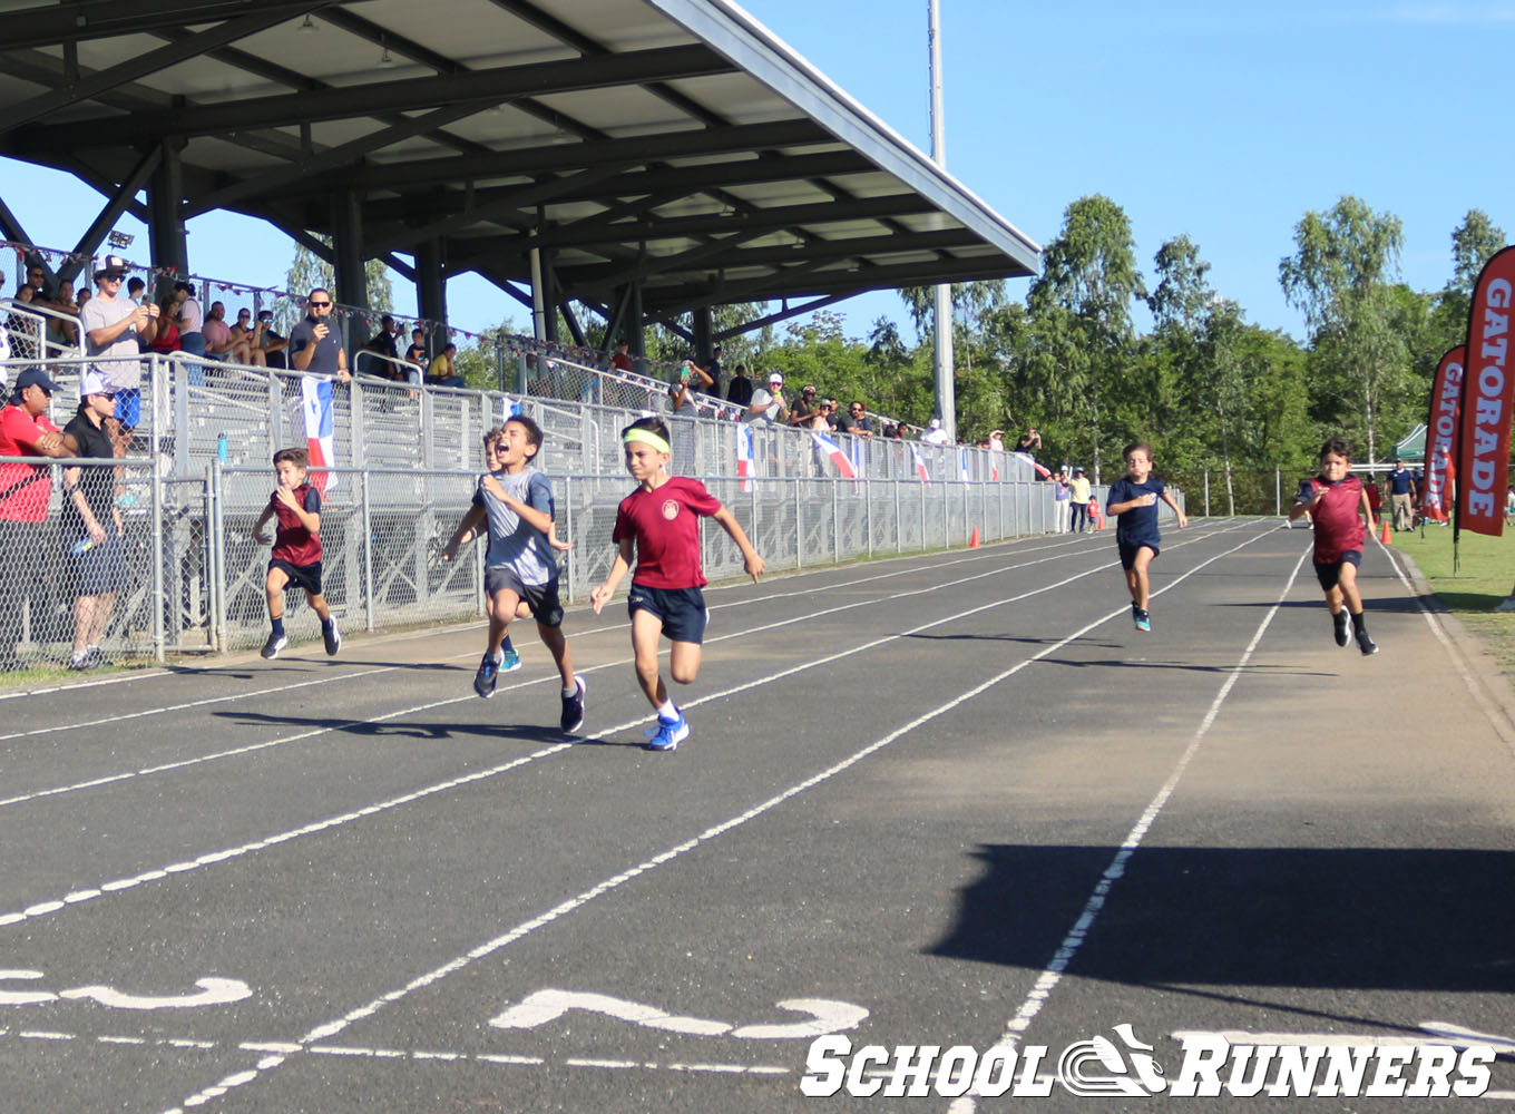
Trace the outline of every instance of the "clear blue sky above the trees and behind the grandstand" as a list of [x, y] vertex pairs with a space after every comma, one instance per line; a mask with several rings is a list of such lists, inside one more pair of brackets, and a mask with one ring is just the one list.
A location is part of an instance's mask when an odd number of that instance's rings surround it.
[[[929, 150], [926, 0], [747, 0], [747, 11], [907, 139]], [[1106, 194], [1132, 220], [1138, 261], [1188, 233], [1248, 320], [1303, 333], [1279, 259], [1306, 211], [1342, 194], [1404, 223], [1403, 277], [1441, 288], [1470, 208], [1515, 232], [1515, 142], [1497, 91], [1515, 3], [1276, 0], [941, 0], [947, 165], [1038, 243], [1064, 209]], [[1479, 74], [1492, 91], [1479, 102]], [[0, 159], [0, 196], [33, 239], [71, 247], [100, 197]], [[145, 229], [127, 255], [142, 258]], [[135, 226], [135, 227], [133, 227]], [[200, 274], [282, 285], [292, 255], [261, 221], [191, 223]], [[1023, 297], [1027, 282], [1012, 283]], [[9, 289], [11, 285], [6, 285]], [[397, 308], [414, 296], [395, 283]], [[453, 323], [527, 315], [488, 283], [448, 286]], [[848, 332], [904, 326], [894, 294], [839, 308]]]

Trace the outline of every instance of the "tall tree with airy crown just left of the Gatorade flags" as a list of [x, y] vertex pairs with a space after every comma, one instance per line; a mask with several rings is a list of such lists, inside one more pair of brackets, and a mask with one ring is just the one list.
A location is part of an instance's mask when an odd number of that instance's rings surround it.
[[[1395, 329], [1398, 303], [1389, 283], [1403, 247], [1400, 218], [1342, 197], [1330, 212], [1306, 212], [1294, 229], [1295, 252], [1279, 262], [1279, 280], [1312, 332], [1323, 402], [1367, 459], [1377, 458], [1385, 399], [1404, 390], [1409, 349]], [[1323, 417], [1333, 408], [1324, 406]]]

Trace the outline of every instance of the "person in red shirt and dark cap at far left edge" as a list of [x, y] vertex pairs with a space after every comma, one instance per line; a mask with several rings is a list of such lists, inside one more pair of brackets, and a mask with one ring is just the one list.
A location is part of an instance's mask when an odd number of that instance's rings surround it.
[[[41, 368], [15, 377], [11, 402], [0, 408], [0, 456], [73, 456], [79, 446], [47, 418], [58, 383]], [[32, 602], [32, 623], [39, 620], [42, 593], [36, 574], [45, 549], [47, 505], [53, 497], [48, 465], [0, 464], [0, 673], [21, 668], [17, 643], [21, 614]]]

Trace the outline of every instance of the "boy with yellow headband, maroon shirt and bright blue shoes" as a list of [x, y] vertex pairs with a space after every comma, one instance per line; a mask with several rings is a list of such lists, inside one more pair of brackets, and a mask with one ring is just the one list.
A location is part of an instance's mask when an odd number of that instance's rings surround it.
[[700, 673], [701, 641], [709, 620], [700, 591], [706, 584], [700, 568], [700, 517], [714, 518], [732, 537], [753, 584], [762, 576], [764, 562], [736, 517], [700, 480], [668, 474], [673, 449], [662, 421], [633, 421], [621, 430], [621, 441], [626, 470], [638, 487], [615, 512], [611, 540], [620, 552], [604, 584], [589, 593], [589, 602], [598, 615], [635, 558], [636, 571], [626, 600], [632, 617], [632, 653], [636, 658], [636, 681], [658, 709], [658, 724], [647, 732], [647, 747], [673, 750], [689, 737], [689, 724], [668, 699], [668, 687], [658, 670], [658, 640], [668, 635], [673, 643], [670, 676], [680, 685], [691, 684]]

